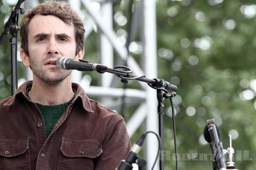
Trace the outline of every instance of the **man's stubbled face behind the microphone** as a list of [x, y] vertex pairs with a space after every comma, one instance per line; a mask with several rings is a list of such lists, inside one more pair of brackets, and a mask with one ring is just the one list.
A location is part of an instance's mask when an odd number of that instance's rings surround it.
[[28, 30], [28, 59], [34, 76], [47, 84], [67, 78], [71, 70], [61, 70], [55, 63], [62, 56], [75, 58], [74, 27], [53, 15], [36, 15]]

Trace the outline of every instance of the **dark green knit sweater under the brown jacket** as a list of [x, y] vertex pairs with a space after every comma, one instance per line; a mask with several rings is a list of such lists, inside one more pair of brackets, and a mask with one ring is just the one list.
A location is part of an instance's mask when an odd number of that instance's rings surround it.
[[[26, 90], [27, 90], [27, 96], [29, 97], [28, 92], [31, 90], [31, 88], [27, 88]], [[75, 92], [75, 95], [76, 95], [76, 89], [73, 89], [73, 91]], [[75, 95], [70, 101], [59, 104], [59, 105], [41, 105], [40, 103], [35, 103], [44, 117], [46, 138], [48, 138], [48, 136], [50, 135], [52, 131], [52, 127], [55, 125], [55, 123], [58, 122], [58, 119], [60, 119], [61, 115], [70, 105], [70, 103], [73, 101], [73, 99], [75, 98]]]

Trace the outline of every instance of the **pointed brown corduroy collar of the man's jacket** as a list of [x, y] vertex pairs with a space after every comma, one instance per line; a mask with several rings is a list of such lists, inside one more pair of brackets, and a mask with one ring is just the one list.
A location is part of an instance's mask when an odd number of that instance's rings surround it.
[[[4, 104], [4, 106], [11, 106], [15, 102], [17, 97], [20, 95], [23, 95], [26, 100], [32, 102], [32, 100], [30, 100], [26, 95], [26, 89], [29, 86], [32, 87], [32, 83], [33, 81], [27, 81], [27, 82], [24, 82], [22, 85], [20, 85], [20, 87], [17, 88], [17, 91], [15, 92], [14, 96], [10, 97], [10, 99]], [[76, 96], [71, 103], [75, 103], [78, 100], [78, 98], [80, 98], [82, 101], [84, 110], [90, 113], [94, 113], [94, 111], [91, 108], [90, 99], [85, 94], [84, 89], [77, 83], [72, 83], [72, 87], [76, 88]]]

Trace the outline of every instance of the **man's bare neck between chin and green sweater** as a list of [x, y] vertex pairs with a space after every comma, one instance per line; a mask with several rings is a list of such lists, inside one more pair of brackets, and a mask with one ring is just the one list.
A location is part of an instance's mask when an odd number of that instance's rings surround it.
[[71, 79], [68, 78], [55, 85], [47, 85], [34, 78], [29, 91], [30, 99], [41, 105], [59, 105], [70, 101], [73, 96]]

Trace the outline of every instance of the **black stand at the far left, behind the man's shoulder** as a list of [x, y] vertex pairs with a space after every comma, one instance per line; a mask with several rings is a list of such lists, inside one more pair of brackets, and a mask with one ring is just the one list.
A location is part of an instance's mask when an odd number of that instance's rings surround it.
[[10, 45], [11, 45], [11, 68], [12, 68], [12, 95], [14, 95], [17, 89], [17, 31], [20, 30], [18, 27], [19, 14], [24, 14], [24, 9], [20, 8], [20, 5], [25, 0], [18, 0], [16, 6], [12, 9], [12, 13], [4, 25], [4, 30], [0, 36], [0, 45], [2, 45], [8, 33], [11, 34]]

